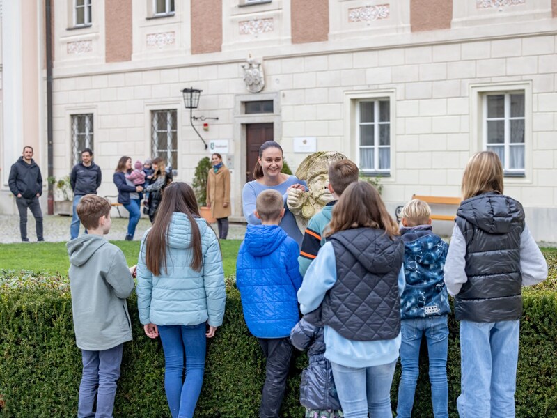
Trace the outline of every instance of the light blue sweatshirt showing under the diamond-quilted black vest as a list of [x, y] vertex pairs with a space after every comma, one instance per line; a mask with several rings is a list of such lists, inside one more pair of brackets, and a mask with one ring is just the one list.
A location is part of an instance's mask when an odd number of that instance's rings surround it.
[[[336, 257], [331, 242], [326, 242], [319, 250], [317, 258], [311, 263], [301, 288], [298, 302], [302, 314], [307, 314], [320, 306], [325, 293], [336, 283]], [[398, 274], [398, 293], [405, 288], [405, 274]], [[354, 341], [345, 339], [333, 328], [325, 325], [325, 358], [329, 362], [346, 367], [370, 367], [389, 364], [398, 359], [400, 333], [396, 338], [381, 341]]]

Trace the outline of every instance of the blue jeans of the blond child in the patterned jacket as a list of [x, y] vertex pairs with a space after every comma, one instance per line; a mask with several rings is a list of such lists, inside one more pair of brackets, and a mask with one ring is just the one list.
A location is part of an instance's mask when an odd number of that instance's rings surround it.
[[419, 374], [420, 345], [424, 334], [427, 342], [427, 356], [430, 359], [433, 415], [435, 418], [448, 418], [447, 316], [405, 319], [400, 325], [402, 375], [398, 386], [397, 418], [410, 418], [412, 414]]

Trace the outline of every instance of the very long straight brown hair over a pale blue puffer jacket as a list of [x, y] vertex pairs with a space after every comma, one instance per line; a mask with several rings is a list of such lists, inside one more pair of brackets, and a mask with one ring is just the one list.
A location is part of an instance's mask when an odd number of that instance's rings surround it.
[[194, 189], [182, 182], [168, 185], [162, 194], [162, 200], [157, 210], [157, 217], [145, 240], [145, 263], [155, 276], [159, 276], [161, 268], [166, 273], [166, 246], [168, 245], [168, 230], [174, 212], [183, 213], [191, 224], [191, 245], [193, 256], [189, 265], [196, 272], [203, 267], [201, 252], [201, 233], [195, 220], [200, 217]]

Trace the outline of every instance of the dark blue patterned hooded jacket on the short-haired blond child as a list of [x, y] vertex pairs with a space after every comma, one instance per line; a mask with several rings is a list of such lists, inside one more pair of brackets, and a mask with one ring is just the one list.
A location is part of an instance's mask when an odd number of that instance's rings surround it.
[[443, 268], [448, 245], [432, 233], [431, 225], [400, 229], [405, 243], [406, 287], [402, 293], [402, 319], [427, 318], [450, 312]]

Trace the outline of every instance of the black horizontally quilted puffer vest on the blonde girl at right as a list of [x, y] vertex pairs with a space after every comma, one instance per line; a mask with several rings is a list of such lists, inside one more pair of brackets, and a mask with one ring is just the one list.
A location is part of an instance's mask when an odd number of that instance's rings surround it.
[[492, 323], [522, 314], [522, 205], [490, 192], [460, 203], [456, 224], [466, 241], [468, 281], [455, 297], [457, 320]]

